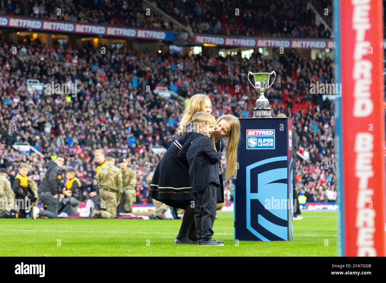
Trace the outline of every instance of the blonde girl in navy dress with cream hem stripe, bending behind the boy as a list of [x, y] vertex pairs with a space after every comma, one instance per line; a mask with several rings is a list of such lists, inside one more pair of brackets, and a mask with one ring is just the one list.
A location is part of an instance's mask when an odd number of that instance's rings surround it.
[[[181, 228], [174, 239], [175, 244], [192, 244], [197, 240], [194, 223], [194, 208], [191, 208], [193, 193], [189, 178], [189, 165], [186, 159], [180, 159], [177, 154], [183, 145], [190, 144], [193, 139], [193, 131], [189, 129], [189, 123], [196, 112], [212, 113], [212, 103], [207, 95], [196, 94], [191, 97], [186, 105], [178, 127], [178, 136], [171, 147], [166, 151], [154, 171], [149, 186], [149, 196], [174, 208], [185, 209]], [[184, 150], [188, 147], [184, 147]], [[161, 210], [161, 209], [160, 209]], [[163, 218], [160, 211], [157, 217]], [[164, 213], [161, 211], [161, 213]]]

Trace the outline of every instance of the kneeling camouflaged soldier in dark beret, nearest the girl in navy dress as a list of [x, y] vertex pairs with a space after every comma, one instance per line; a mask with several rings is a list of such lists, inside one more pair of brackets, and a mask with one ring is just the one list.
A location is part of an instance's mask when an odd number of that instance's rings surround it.
[[122, 206], [126, 213], [132, 213], [132, 205], [137, 194], [137, 172], [128, 167], [129, 162], [124, 156], [118, 159], [119, 168], [122, 172], [123, 192], [120, 197], [119, 206]]

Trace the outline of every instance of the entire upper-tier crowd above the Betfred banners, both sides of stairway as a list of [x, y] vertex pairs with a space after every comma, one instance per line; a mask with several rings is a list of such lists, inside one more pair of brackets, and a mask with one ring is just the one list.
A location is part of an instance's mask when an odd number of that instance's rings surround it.
[[[315, 14], [307, 10], [301, 0], [264, 0], [258, 5], [252, 0], [150, 2], [197, 33], [291, 38], [331, 36], [323, 24], [315, 24]], [[145, 7], [141, 0], [3, 0], [0, 15], [178, 30], [173, 21], [162, 15], [153, 12], [146, 15]]]

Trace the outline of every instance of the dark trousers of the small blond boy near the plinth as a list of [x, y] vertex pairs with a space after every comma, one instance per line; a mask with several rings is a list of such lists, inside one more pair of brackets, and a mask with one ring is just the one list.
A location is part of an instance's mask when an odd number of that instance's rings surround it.
[[196, 233], [198, 239], [205, 242], [210, 241], [213, 236], [212, 228], [216, 217], [217, 189], [217, 184], [210, 183], [205, 189], [193, 193]]

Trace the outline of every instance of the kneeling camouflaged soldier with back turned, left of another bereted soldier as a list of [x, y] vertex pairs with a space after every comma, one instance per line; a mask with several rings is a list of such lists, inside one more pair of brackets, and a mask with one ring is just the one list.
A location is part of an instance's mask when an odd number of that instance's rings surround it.
[[118, 199], [122, 194], [122, 172], [115, 167], [115, 154], [106, 155], [107, 164], [99, 170], [98, 188], [101, 197], [100, 207], [90, 209], [88, 218], [115, 218], [117, 214]]

